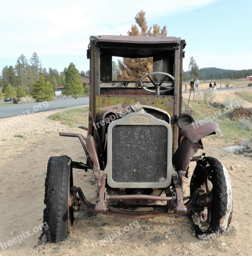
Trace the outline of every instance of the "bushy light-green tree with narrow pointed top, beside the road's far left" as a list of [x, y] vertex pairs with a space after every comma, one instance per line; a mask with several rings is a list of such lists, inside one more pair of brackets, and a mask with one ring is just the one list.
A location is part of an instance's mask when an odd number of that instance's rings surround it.
[[45, 80], [43, 73], [39, 73], [39, 76], [38, 81], [32, 83], [32, 97], [36, 99], [37, 102], [52, 101], [54, 96], [52, 84]]

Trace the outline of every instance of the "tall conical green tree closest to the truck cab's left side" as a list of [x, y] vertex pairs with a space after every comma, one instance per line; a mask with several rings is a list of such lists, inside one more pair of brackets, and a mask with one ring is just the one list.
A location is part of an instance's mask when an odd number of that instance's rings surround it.
[[75, 64], [70, 63], [66, 70], [66, 90], [64, 94], [72, 95], [75, 99], [80, 95], [84, 95], [83, 84], [81, 82], [81, 74], [76, 69]]

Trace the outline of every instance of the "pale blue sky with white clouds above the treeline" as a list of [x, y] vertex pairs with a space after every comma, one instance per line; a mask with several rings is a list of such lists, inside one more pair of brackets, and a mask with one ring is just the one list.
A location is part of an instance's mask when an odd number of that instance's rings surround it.
[[193, 56], [201, 67], [252, 69], [250, 0], [1, 0], [0, 70], [37, 52], [43, 67], [62, 71], [73, 62], [89, 69], [90, 35], [127, 35], [137, 12], [148, 26], [166, 25], [185, 39], [184, 70]]

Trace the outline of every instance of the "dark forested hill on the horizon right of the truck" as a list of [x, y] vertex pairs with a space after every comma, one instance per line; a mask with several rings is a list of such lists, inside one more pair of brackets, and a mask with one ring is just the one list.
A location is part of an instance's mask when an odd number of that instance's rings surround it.
[[[252, 69], [250, 70], [225, 70], [217, 67], [205, 67], [200, 69], [199, 79], [204, 79], [205, 74], [206, 80], [217, 80], [220, 79], [240, 79], [246, 76], [252, 76]], [[188, 77], [188, 71], [185, 72], [185, 76]]]

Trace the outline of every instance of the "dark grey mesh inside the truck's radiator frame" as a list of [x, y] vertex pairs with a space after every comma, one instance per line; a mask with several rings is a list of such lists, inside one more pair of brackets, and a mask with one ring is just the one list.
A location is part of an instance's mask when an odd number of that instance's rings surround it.
[[167, 178], [167, 128], [116, 125], [112, 129], [112, 179], [115, 182], [163, 182]]

